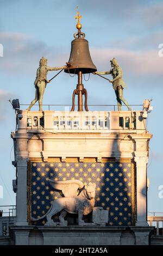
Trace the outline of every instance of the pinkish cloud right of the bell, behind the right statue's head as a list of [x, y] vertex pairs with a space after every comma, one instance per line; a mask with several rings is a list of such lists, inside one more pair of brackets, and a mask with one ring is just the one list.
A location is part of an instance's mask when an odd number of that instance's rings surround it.
[[131, 51], [121, 48], [91, 48], [93, 62], [99, 70], [110, 69], [109, 60], [117, 58], [123, 70], [132, 75], [161, 75], [163, 58], [158, 50]]

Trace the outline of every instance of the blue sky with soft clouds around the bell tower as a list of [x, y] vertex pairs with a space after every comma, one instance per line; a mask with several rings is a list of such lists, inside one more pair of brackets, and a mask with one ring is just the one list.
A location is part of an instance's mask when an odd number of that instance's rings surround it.
[[[14, 152], [10, 138], [11, 131], [15, 130], [15, 113], [8, 100], [18, 98], [21, 104], [33, 100], [36, 69], [42, 56], [48, 59], [49, 66], [65, 65], [76, 32], [77, 5], [83, 16], [82, 31], [89, 40], [97, 69], [109, 70], [109, 60], [117, 58], [127, 84], [124, 96], [128, 102], [137, 105], [144, 99], [153, 99], [153, 111], [147, 125], [153, 135], [149, 144], [148, 211], [163, 212], [163, 198], [159, 198], [159, 186], [163, 186], [161, 0], [0, 0], [0, 44], [3, 45], [3, 57], [0, 57], [0, 186], [3, 186], [3, 198], [0, 198], [0, 205], [15, 204], [12, 192], [15, 168], [11, 164]], [[49, 72], [48, 77], [55, 74]], [[43, 103], [71, 104], [76, 84], [77, 77], [61, 72], [48, 84]], [[116, 104], [114, 90], [106, 80], [91, 74], [84, 86], [89, 104]], [[99, 108], [90, 107], [90, 110]]]

